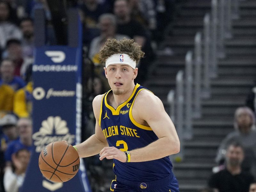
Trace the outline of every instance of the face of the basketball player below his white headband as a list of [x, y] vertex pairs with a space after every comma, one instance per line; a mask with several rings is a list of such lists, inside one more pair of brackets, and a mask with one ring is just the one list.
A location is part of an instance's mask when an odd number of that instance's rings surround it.
[[104, 69], [108, 84], [115, 95], [123, 95], [133, 88], [138, 68], [133, 69], [129, 65], [113, 64]]

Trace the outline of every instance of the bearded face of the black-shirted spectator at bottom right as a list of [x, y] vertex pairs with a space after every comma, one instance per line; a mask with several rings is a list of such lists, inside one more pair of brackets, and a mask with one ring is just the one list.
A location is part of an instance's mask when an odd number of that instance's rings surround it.
[[231, 166], [240, 165], [244, 160], [244, 152], [241, 147], [229, 146], [226, 154], [227, 162]]

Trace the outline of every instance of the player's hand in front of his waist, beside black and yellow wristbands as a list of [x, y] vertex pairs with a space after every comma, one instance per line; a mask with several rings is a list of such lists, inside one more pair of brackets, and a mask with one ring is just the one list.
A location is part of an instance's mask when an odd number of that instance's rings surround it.
[[115, 147], [104, 147], [100, 151], [100, 160], [104, 159], [116, 159], [121, 162], [126, 162], [126, 155], [123, 151], [119, 150], [118, 148]]

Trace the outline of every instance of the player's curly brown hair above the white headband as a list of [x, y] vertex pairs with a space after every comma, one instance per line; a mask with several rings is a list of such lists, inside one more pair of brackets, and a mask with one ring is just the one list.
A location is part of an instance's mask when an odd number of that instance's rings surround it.
[[135, 43], [133, 39], [123, 38], [120, 41], [108, 39], [99, 52], [99, 59], [105, 62], [108, 57], [116, 53], [129, 55], [131, 59], [136, 61], [136, 64], [138, 64], [140, 58], [143, 58], [145, 54], [141, 51], [141, 46]]

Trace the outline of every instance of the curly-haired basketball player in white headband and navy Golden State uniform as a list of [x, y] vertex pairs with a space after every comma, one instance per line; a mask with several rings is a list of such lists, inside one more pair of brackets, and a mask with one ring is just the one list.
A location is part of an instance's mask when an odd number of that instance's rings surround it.
[[80, 157], [113, 159], [114, 192], [178, 192], [169, 155], [180, 141], [163, 103], [135, 84], [144, 52], [133, 40], [108, 40], [99, 52], [111, 90], [94, 98], [95, 134], [74, 146]]

